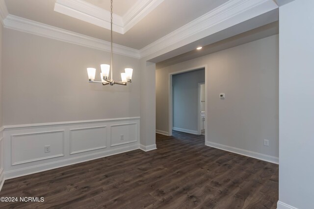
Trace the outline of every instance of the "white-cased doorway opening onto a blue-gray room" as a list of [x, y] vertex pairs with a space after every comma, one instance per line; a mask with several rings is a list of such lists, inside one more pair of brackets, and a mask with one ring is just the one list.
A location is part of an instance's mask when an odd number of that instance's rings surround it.
[[[201, 76], [200, 71], [203, 71]], [[201, 79], [196, 79], [197, 77], [201, 77]], [[206, 99], [203, 98], [203, 105], [201, 105], [201, 102], [199, 102], [201, 98], [199, 88], [202, 87], [199, 86], [200, 84], [204, 84], [203, 95], [206, 97], [205, 80], [206, 66], [169, 73], [168, 130], [170, 136], [172, 135], [172, 130], [195, 135], [201, 135], [203, 130], [206, 140], [206, 132], [204, 130], [207, 121], [203, 121], [200, 114], [201, 109], [203, 108], [204, 111], [202, 112], [204, 112], [203, 115], [205, 117]]]

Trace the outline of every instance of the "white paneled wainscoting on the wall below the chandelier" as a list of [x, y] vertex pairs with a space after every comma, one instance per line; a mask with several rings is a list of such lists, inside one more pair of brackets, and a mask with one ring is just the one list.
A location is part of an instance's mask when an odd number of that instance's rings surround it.
[[128, 117], [4, 126], [4, 179], [139, 149], [139, 122]]

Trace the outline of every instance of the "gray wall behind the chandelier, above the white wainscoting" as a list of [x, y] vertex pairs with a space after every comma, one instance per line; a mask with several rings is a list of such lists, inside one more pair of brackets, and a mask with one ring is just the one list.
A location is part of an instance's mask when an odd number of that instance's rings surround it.
[[113, 57], [114, 78], [134, 69], [132, 83], [88, 83], [87, 67], [110, 62], [110, 53], [11, 29], [3, 33], [4, 125], [140, 116], [140, 62]]

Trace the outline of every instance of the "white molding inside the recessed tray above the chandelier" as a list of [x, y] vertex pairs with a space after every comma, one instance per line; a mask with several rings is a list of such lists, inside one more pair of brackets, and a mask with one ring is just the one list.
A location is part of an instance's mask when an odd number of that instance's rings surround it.
[[[112, 14], [114, 19], [112, 30], [121, 34], [126, 33], [162, 1], [164, 0], [138, 0], [123, 17]], [[84, 0], [56, 0], [54, 11], [109, 30], [111, 29], [110, 11]]]

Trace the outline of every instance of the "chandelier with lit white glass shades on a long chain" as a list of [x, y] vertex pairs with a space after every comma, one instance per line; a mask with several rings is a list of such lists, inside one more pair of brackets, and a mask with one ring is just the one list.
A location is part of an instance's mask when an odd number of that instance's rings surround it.
[[87, 68], [87, 74], [88, 74], [88, 79], [89, 83], [102, 83], [104, 86], [110, 84], [110, 86], [113, 86], [113, 84], [119, 84], [119, 85], [124, 85], [126, 86], [127, 83], [131, 83], [132, 79], [132, 72], [133, 69], [131, 68], [126, 68], [125, 72], [121, 73], [121, 81], [114, 81], [112, 78], [112, 0], [111, 0], [111, 11], [110, 11], [110, 18], [111, 18], [111, 74], [110, 74], [110, 79], [109, 79], [109, 71], [110, 71], [110, 65], [107, 64], [102, 64], [100, 65], [101, 67], [101, 73], [100, 77], [102, 81], [94, 81], [95, 80], [95, 74], [96, 74], [96, 69], [95, 68]]

